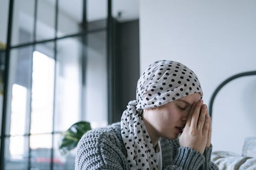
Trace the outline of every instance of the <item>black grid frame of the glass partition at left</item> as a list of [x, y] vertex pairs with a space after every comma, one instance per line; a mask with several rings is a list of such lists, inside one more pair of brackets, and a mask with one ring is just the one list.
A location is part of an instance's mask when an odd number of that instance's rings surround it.
[[[9, 66], [10, 66], [10, 51], [15, 48], [21, 48], [26, 46], [33, 46], [33, 50], [35, 50], [36, 44], [46, 43], [46, 42], [54, 42], [54, 59], [56, 61], [57, 56], [57, 40], [70, 38], [70, 37], [81, 37], [83, 46], [86, 45], [87, 39], [86, 35], [93, 32], [100, 32], [100, 31], [106, 31], [106, 58], [107, 58], [107, 69], [108, 69], [108, 123], [111, 124], [114, 122], [115, 114], [115, 103], [117, 101], [116, 99], [116, 74], [117, 74], [117, 67], [116, 67], [116, 55], [115, 55], [115, 22], [112, 17], [112, 1], [108, 0], [108, 16], [107, 16], [107, 24], [105, 28], [100, 29], [90, 29], [88, 30], [88, 22], [87, 22], [87, 0], [83, 0], [83, 11], [82, 11], [82, 31], [76, 34], [70, 34], [62, 37], [57, 37], [57, 29], [58, 29], [58, 2], [59, 0], [55, 0], [55, 35], [54, 38], [46, 39], [46, 40], [40, 40], [36, 41], [36, 21], [37, 21], [37, 2], [35, 1], [35, 8], [34, 8], [34, 23], [33, 23], [33, 41], [29, 43], [22, 43], [18, 45], [11, 45], [11, 37], [12, 37], [12, 19], [13, 19], [13, 7], [14, 7], [14, 1], [9, 1], [9, 15], [8, 15], [8, 33], [7, 33], [7, 46], [5, 50], [1, 50], [2, 53], [5, 54], [5, 70], [4, 70], [4, 100], [3, 100], [3, 113], [2, 113], [2, 129], [1, 129], [1, 147], [0, 147], [0, 169], [5, 169], [5, 139], [7, 137], [10, 137], [10, 135], [6, 135], [6, 118], [7, 118], [7, 103], [8, 103], [8, 82], [9, 82]], [[86, 74], [86, 61], [87, 61], [87, 51], [86, 49], [82, 50], [82, 85], [85, 84], [85, 74]], [[55, 65], [56, 69], [56, 65]], [[56, 77], [55, 77], [56, 80]], [[55, 81], [54, 80], [54, 81]], [[55, 84], [55, 83], [54, 83]], [[54, 87], [54, 91], [55, 91]], [[84, 98], [82, 97], [81, 100]], [[55, 101], [55, 93], [54, 93], [54, 101]], [[54, 105], [55, 107], [55, 105]], [[31, 114], [31, 112], [30, 112]], [[54, 114], [54, 108], [53, 108], [53, 114]], [[29, 120], [30, 122], [30, 120]], [[54, 119], [53, 119], [53, 127], [54, 127]], [[50, 133], [52, 136], [54, 134], [61, 133], [61, 132], [52, 132]], [[25, 134], [23, 136], [30, 136], [29, 134]], [[51, 149], [51, 159], [53, 158], [53, 141], [54, 137], [52, 137], [52, 149]], [[31, 152], [29, 152], [29, 165], [28, 169], [30, 169], [30, 156]], [[51, 162], [51, 169], [53, 169], [53, 162]]]

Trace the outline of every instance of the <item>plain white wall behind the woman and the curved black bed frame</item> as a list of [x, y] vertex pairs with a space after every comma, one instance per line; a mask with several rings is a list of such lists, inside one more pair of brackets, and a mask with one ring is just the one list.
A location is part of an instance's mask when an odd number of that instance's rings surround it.
[[[256, 1], [140, 1], [141, 72], [155, 60], [193, 69], [209, 103], [226, 78], [256, 69]], [[217, 95], [212, 118], [214, 151], [242, 151], [256, 136], [256, 76], [229, 83]]]

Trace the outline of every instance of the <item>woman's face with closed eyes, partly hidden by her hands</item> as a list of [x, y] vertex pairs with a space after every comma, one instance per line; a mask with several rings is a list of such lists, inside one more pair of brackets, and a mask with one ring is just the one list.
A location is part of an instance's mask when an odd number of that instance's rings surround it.
[[194, 93], [157, 108], [145, 109], [143, 119], [148, 133], [156, 138], [176, 139], [186, 124], [191, 106], [200, 98], [199, 93]]

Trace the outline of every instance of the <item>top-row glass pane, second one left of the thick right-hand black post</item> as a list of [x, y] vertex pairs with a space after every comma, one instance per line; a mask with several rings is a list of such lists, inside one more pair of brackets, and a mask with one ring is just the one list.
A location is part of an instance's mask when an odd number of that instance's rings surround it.
[[83, 2], [86, 1], [61, 0], [58, 2], [58, 37], [81, 32]]

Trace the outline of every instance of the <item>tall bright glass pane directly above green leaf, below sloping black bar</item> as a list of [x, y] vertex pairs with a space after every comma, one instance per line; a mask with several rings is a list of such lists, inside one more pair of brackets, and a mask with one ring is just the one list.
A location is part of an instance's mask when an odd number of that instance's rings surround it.
[[60, 39], [57, 49], [54, 131], [65, 131], [81, 119], [81, 41]]

